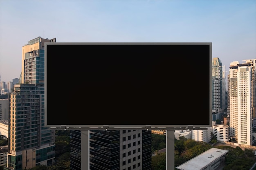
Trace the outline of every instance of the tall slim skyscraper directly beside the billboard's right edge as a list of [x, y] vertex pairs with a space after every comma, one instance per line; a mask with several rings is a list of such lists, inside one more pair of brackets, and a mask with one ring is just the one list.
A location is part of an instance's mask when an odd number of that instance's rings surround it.
[[225, 102], [225, 82], [222, 63], [218, 57], [212, 59], [212, 115], [213, 121], [223, 120]]

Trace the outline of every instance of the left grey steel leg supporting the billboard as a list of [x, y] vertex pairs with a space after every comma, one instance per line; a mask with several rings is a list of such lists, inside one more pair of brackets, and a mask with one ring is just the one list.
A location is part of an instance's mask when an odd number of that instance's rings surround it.
[[89, 169], [89, 130], [81, 130], [81, 170]]

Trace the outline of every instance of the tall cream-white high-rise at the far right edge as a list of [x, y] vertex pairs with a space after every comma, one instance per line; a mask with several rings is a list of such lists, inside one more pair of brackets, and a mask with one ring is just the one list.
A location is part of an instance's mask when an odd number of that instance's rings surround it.
[[255, 108], [256, 59], [231, 62], [229, 66], [230, 137], [238, 144], [252, 145], [252, 119]]

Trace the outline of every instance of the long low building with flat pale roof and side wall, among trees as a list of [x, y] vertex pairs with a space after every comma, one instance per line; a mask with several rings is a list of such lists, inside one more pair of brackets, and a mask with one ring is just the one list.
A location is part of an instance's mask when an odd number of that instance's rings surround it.
[[216, 170], [225, 164], [228, 150], [211, 148], [177, 166], [178, 170]]

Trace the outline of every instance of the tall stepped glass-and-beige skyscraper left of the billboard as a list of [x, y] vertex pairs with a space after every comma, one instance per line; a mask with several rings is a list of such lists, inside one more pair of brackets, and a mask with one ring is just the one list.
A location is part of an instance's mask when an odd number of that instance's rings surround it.
[[55, 132], [45, 128], [44, 42], [35, 38], [22, 47], [21, 84], [10, 95], [9, 153], [4, 170], [52, 165]]

